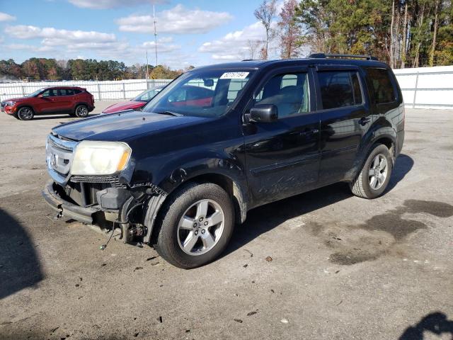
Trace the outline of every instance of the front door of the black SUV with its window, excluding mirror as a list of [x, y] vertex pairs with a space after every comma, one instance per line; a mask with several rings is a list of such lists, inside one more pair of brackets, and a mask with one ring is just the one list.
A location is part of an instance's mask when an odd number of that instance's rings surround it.
[[261, 82], [250, 108], [277, 107], [277, 121], [248, 123], [246, 145], [248, 186], [252, 205], [262, 205], [309, 190], [319, 171], [319, 113], [312, 112], [311, 72], [282, 69]]

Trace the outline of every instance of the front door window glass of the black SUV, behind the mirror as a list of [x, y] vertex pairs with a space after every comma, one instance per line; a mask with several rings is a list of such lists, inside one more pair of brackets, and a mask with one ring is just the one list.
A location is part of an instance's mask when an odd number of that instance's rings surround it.
[[307, 113], [309, 104], [309, 81], [306, 72], [278, 74], [271, 78], [254, 97], [256, 104], [277, 106], [278, 118]]

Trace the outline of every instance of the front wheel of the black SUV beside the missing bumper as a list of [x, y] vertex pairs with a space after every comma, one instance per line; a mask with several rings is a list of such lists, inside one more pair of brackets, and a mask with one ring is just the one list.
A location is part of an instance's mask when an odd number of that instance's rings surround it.
[[173, 266], [196, 268], [226, 248], [234, 229], [233, 203], [216, 184], [188, 183], [167, 198], [158, 221], [154, 249]]

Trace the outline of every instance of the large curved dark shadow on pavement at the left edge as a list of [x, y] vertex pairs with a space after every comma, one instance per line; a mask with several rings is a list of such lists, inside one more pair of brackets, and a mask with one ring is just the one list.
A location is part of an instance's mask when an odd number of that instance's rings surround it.
[[0, 299], [33, 286], [42, 278], [40, 261], [27, 232], [0, 209]]

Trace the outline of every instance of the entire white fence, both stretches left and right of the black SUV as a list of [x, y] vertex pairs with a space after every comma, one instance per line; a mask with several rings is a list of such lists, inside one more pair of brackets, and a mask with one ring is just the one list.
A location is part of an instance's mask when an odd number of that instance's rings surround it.
[[[453, 66], [394, 69], [408, 108], [453, 108]], [[123, 81], [54, 81], [0, 84], [0, 99], [22, 97], [47, 86], [80, 86], [96, 101], [134, 98], [146, 89], [168, 84], [168, 79]]]

